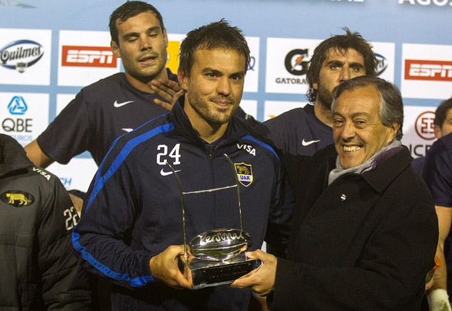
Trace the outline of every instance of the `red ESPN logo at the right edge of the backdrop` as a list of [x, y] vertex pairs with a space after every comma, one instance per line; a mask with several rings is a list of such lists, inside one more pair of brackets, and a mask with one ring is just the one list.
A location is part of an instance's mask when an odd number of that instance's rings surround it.
[[405, 59], [405, 79], [452, 81], [452, 62]]

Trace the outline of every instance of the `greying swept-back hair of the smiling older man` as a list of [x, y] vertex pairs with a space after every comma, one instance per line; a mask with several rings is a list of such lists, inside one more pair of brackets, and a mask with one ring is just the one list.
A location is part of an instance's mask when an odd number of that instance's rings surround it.
[[374, 77], [370, 75], [361, 75], [347, 80], [338, 86], [336, 95], [331, 104], [331, 111], [334, 112], [334, 105], [336, 99], [343, 93], [343, 91], [353, 91], [356, 88], [363, 88], [365, 86], [374, 86], [380, 95], [379, 117], [384, 126], [392, 126], [392, 123], [400, 124], [399, 131], [395, 135], [397, 140], [401, 140], [404, 133], [402, 127], [404, 126], [404, 102], [401, 99], [399, 88], [385, 79]]

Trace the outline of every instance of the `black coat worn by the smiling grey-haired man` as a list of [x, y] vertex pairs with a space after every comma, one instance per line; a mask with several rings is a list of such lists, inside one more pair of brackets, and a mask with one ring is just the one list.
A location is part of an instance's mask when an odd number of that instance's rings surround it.
[[438, 229], [408, 149], [328, 186], [336, 157], [330, 146], [292, 167], [309, 182], [294, 184], [289, 260], [278, 258], [271, 310], [419, 310]]

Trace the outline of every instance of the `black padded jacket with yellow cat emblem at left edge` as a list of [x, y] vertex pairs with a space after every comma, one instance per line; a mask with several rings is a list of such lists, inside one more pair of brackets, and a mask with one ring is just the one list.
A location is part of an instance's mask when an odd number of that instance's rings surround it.
[[77, 221], [60, 180], [0, 134], [1, 310], [89, 310], [86, 272], [71, 245]]

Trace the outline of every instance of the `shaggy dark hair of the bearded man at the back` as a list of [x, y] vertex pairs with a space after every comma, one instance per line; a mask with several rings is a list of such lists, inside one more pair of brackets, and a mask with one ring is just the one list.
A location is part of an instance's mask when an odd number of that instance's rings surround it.
[[314, 89], [313, 84], [318, 83], [318, 75], [323, 62], [328, 57], [330, 49], [336, 50], [338, 53], [345, 54], [349, 48], [353, 48], [363, 56], [364, 68], [366, 75], [377, 75], [378, 59], [372, 51], [372, 45], [363, 39], [359, 32], [350, 32], [347, 27], [342, 28], [345, 35], [335, 35], [320, 42], [314, 49], [314, 54], [309, 61], [309, 67], [306, 72], [306, 80], [309, 84], [307, 90], [307, 98], [310, 102], [316, 102], [317, 90]]

